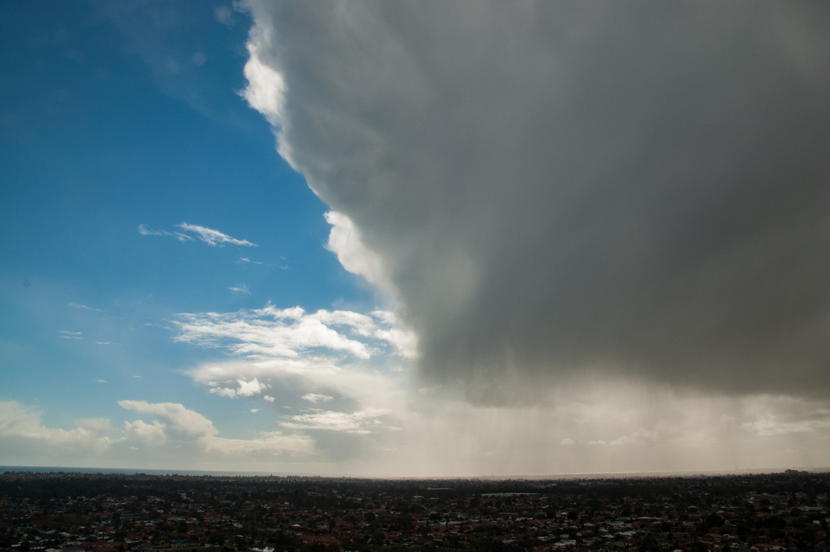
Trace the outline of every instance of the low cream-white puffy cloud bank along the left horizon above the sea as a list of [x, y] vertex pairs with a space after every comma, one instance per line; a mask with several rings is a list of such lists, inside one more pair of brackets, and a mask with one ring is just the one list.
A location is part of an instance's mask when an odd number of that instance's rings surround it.
[[[0, 462], [15, 465], [61, 460], [61, 465], [88, 466], [90, 453], [110, 467], [193, 467], [250, 470], [274, 469], [275, 462], [289, 462], [282, 469], [297, 471], [295, 462], [318, 456], [315, 442], [296, 432], [254, 432], [252, 437], [220, 437], [210, 420], [178, 403], [120, 401], [132, 412], [153, 419], [125, 421], [118, 432], [110, 421], [81, 419], [76, 427], [47, 427], [41, 413], [14, 401], [0, 401]], [[251, 462], [261, 462], [252, 464]], [[101, 464], [104, 465], [104, 464]]]

